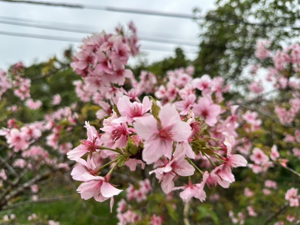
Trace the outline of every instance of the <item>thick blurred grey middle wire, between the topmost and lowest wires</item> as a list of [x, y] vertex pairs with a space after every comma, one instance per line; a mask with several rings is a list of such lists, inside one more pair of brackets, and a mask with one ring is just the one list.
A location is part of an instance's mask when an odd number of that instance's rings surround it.
[[[58, 31], [67, 31], [67, 32], [75, 32], [75, 33], [83, 33], [83, 34], [91, 34], [92, 32], [96, 32], [96, 29], [82, 29], [77, 27], [69, 27], [69, 26], [53, 26], [47, 24], [37, 23], [37, 20], [32, 20], [34, 22], [21, 22], [13, 19], [1, 19], [3, 18], [0, 16], [0, 23], [3, 24], [10, 24], [16, 26], [26, 26], [26, 27], [35, 27], [41, 29], [50, 29], [50, 30], [58, 30]], [[5, 17], [4, 17], [5, 18]], [[198, 47], [198, 44], [193, 41], [185, 41], [179, 39], [171, 39], [171, 38], [159, 38], [159, 37], [149, 37], [139, 35], [139, 39], [142, 41], [152, 41], [152, 42], [159, 42], [159, 43], [167, 43], [167, 44], [180, 44], [180, 45], [187, 45], [187, 46], [194, 46]]]

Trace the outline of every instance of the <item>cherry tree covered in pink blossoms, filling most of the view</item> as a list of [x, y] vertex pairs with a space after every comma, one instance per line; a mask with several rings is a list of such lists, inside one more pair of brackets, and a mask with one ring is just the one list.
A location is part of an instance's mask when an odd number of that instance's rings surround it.
[[[235, 86], [193, 77], [192, 66], [134, 74], [133, 23], [83, 39], [71, 68], [54, 58], [41, 76], [26, 76], [21, 63], [1, 70], [0, 210], [46, 201], [41, 183], [62, 176], [81, 199], [109, 200], [118, 224], [298, 223], [300, 47], [275, 52], [268, 43], [259, 41], [255, 55], [274, 66], [253, 65], [247, 95], [235, 98]], [[35, 80], [69, 70], [78, 74], [69, 81], [77, 99], [32, 97]], [[16, 218], [10, 211], [3, 221]]]

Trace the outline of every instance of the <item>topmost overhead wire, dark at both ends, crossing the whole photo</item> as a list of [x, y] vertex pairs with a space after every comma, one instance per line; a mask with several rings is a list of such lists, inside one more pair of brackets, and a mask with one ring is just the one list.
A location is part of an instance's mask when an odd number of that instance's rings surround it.
[[99, 5], [83, 5], [83, 4], [65, 4], [65, 3], [55, 3], [55, 2], [43, 2], [43, 1], [26, 1], [26, 0], [0, 0], [10, 3], [28, 3], [28, 4], [38, 4], [38, 5], [47, 5], [47, 6], [57, 6], [57, 7], [69, 7], [69, 8], [78, 8], [78, 9], [91, 9], [91, 10], [105, 10], [105, 11], [113, 11], [113, 12], [122, 12], [122, 13], [136, 13], [136, 14], [144, 14], [144, 15], [152, 15], [152, 16], [168, 16], [182, 19], [204, 19], [206, 21], [216, 21], [216, 22], [232, 22], [235, 24], [244, 23], [251, 26], [263, 26], [263, 27], [278, 27], [278, 28], [290, 28], [293, 30], [300, 30], [300, 27], [286, 26], [281, 24], [272, 24], [272, 23], [253, 23], [246, 20], [238, 20], [238, 19], [220, 19], [216, 17], [201, 17], [201, 16], [193, 16], [191, 14], [186, 13], [168, 13], [168, 12], [159, 12], [152, 10], [141, 10], [141, 9], [126, 9], [120, 7], [111, 7], [111, 6], [99, 6]]

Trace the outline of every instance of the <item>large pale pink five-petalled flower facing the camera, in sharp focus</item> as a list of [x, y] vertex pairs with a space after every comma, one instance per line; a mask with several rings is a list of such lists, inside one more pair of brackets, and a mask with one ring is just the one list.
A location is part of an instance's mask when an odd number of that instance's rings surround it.
[[145, 140], [142, 158], [147, 164], [163, 155], [171, 159], [173, 142], [186, 141], [191, 134], [190, 126], [180, 120], [174, 105], [163, 106], [158, 117], [160, 122], [147, 116], [136, 118], [133, 124], [136, 133]]

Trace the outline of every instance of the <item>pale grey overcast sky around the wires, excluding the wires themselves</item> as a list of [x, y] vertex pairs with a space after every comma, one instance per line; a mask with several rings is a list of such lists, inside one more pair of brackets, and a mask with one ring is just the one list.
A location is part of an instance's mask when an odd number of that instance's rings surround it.
[[[62, 3], [60, 0], [48, 0], [49, 2]], [[194, 7], [198, 7], [204, 14], [214, 9], [215, 1], [184, 0], [184, 1], [97, 1], [97, 0], [72, 0], [64, 1], [68, 4], [92, 4], [99, 6], [111, 6], [138, 10], [155, 10], [169, 13], [186, 13], [192, 15]], [[33, 27], [15, 26], [2, 24], [6, 17], [21, 19], [34, 19], [39, 23], [72, 23], [80, 26], [93, 28], [101, 32], [113, 32], [114, 27], [121, 23], [126, 25], [133, 21], [138, 29], [138, 35], [179, 39], [189, 41], [190, 44], [198, 44], [200, 29], [192, 19], [151, 16], [134, 13], [121, 13], [104, 10], [75, 9], [66, 7], [41, 6], [35, 4], [8, 3], [0, 1], [0, 32], [17, 32], [37, 35], [51, 35], [65, 38], [85, 38], [88, 34]], [[7, 18], [6, 18], [6, 21]], [[5, 21], [4, 21], [5, 22]], [[80, 43], [67, 41], [42, 40], [36, 38], [14, 37], [0, 34], [0, 68], [6, 69], [9, 65], [23, 61], [26, 65], [33, 62], [47, 60], [54, 55], [61, 56], [64, 49], [70, 45], [79, 46]], [[167, 39], [168, 40], [168, 39]], [[172, 40], [168, 40], [172, 42]], [[186, 46], [171, 43], [157, 43], [141, 41], [142, 52], [147, 55], [148, 62], [160, 61], [165, 57], [174, 55], [177, 46], [183, 48], [188, 58], [194, 59], [197, 52], [196, 46]], [[150, 50], [156, 49], [156, 50]], [[157, 51], [160, 50], [161, 51]]]

